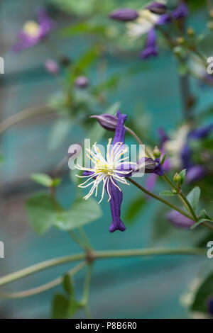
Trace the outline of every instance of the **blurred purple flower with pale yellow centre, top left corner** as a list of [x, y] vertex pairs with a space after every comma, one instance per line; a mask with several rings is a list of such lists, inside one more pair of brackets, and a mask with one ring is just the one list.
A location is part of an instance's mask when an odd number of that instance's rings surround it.
[[28, 21], [24, 24], [22, 30], [18, 33], [18, 42], [13, 45], [13, 51], [19, 52], [35, 46], [40, 40], [43, 40], [54, 27], [55, 23], [48, 16], [45, 9], [39, 9], [38, 23]]

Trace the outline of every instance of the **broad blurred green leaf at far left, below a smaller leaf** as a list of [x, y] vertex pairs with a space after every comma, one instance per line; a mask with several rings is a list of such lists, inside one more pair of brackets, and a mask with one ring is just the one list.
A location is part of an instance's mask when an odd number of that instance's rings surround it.
[[37, 194], [26, 202], [26, 210], [32, 227], [44, 234], [57, 221], [53, 199], [48, 194]]

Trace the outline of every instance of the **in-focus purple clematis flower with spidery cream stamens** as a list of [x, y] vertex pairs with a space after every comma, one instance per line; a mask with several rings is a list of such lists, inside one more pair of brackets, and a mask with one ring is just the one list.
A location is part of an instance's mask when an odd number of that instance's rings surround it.
[[[112, 221], [109, 227], [110, 232], [116, 230], [124, 231], [126, 227], [121, 221], [121, 203], [123, 199], [123, 193], [118, 183], [129, 185], [125, 179], [127, 176], [131, 176], [133, 172], [140, 169], [140, 165], [132, 162], [124, 162], [126, 157], [122, 157], [128, 149], [124, 145], [124, 137], [126, 128], [124, 123], [127, 115], [122, 114], [120, 111], [116, 113], [117, 124], [114, 133], [114, 140], [111, 145], [111, 139], [107, 145], [106, 158], [102, 156], [101, 151], [96, 144], [93, 145], [92, 149], [87, 149], [89, 152], [89, 158], [92, 160], [92, 167], [82, 167], [77, 165], [76, 168], [83, 172], [80, 178], [87, 178], [83, 184], [80, 185], [82, 188], [91, 186], [89, 193], [84, 196], [84, 199], [88, 199], [93, 193], [97, 196], [97, 190], [99, 184], [102, 184], [102, 196], [99, 203], [104, 198], [105, 191], [109, 196]], [[127, 157], [128, 158], [128, 157]], [[148, 164], [149, 172], [155, 172], [161, 174], [163, 169], [160, 167], [159, 161], [154, 162], [145, 161]], [[151, 164], [153, 165], [151, 168]], [[146, 167], [145, 167], [146, 169]]]

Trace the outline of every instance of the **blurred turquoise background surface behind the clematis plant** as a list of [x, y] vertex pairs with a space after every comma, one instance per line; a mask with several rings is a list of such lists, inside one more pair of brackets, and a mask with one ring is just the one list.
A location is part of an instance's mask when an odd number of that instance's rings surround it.
[[[16, 33], [35, 8], [45, 1], [7, 0], [1, 1], [1, 56], [5, 59], [5, 74], [1, 75], [1, 120], [23, 109], [46, 103], [47, 97], [58, 90], [58, 81], [45, 72], [43, 63], [58, 49], [65, 55], [77, 58], [89, 45], [89, 38], [61, 39], [55, 33], [50, 40], [30, 50], [14, 54], [11, 52]], [[192, 18], [198, 31], [204, 27], [201, 11]], [[70, 23], [69, 16], [55, 14], [58, 26]], [[54, 45], [54, 46], [53, 46]], [[53, 49], [54, 47], [54, 49]], [[53, 50], [53, 51], [52, 51]], [[126, 68], [140, 62], [137, 55], [128, 59], [107, 55], [107, 75], [125, 75]], [[89, 78], [96, 80], [91, 70]], [[213, 101], [211, 89], [201, 88], [192, 81], [192, 91], [197, 96], [196, 112]], [[145, 109], [150, 118], [151, 135], [158, 140], [159, 127], [175, 128], [182, 119], [179, 79], [176, 64], [170, 52], [162, 50], [160, 56], [148, 61], [147, 69], [124, 79], [109, 101], [121, 102], [121, 111], [131, 115], [138, 108]], [[80, 142], [82, 131], [73, 127], [64, 144], [56, 152], [48, 149], [48, 135], [53, 125], [53, 115], [43, 115], [4, 132], [1, 136], [1, 153], [5, 163], [1, 166], [1, 225], [0, 239], [5, 244], [5, 259], [0, 259], [1, 276], [31, 264], [79, 252], [66, 232], [51, 229], [40, 237], [28, 224], [24, 201], [38, 190], [29, 179], [33, 172], [48, 172], [67, 154], [70, 144]], [[111, 133], [110, 133], [111, 135]], [[144, 180], [142, 181], [144, 183]], [[127, 186], [126, 186], [127, 187]], [[138, 198], [136, 188], [124, 188], [122, 217], [129, 200]], [[75, 198], [75, 186], [66, 176], [58, 189], [58, 198], [67, 207]], [[171, 239], [153, 237], [153, 220], [156, 220], [158, 203], [148, 201], [147, 207], [126, 232], [109, 233], [111, 214], [109, 204], [102, 202], [103, 216], [85, 227], [94, 249], [131, 249], [139, 247], [190, 246], [189, 232], [174, 230]], [[165, 212], [165, 210], [164, 210]], [[177, 237], [176, 237], [177, 236]], [[104, 259], [94, 265], [94, 276], [89, 297], [92, 314], [102, 318], [165, 318], [187, 317], [180, 305], [180, 295], [192, 278], [208, 265], [206, 259], [192, 256], [158, 256], [133, 259]], [[65, 273], [70, 265], [43, 271], [16, 283], [4, 290], [15, 291], [33, 288]], [[77, 295], [82, 294], [84, 271], [77, 273], [75, 284]], [[20, 300], [0, 300], [0, 316], [18, 318], [50, 317], [50, 301], [60, 287], [40, 295]], [[79, 312], [77, 317], [84, 317]]]

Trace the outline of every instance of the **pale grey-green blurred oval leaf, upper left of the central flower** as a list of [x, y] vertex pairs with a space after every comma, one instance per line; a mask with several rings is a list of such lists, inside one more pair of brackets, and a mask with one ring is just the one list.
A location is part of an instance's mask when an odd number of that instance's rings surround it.
[[67, 137], [71, 128], [72, 120], [70, 120], [70, 118], [60, 118], [56, 120], [50, 130], [48, 148], [50, 150], [58, 149], [65, 140], [65, 137]]

